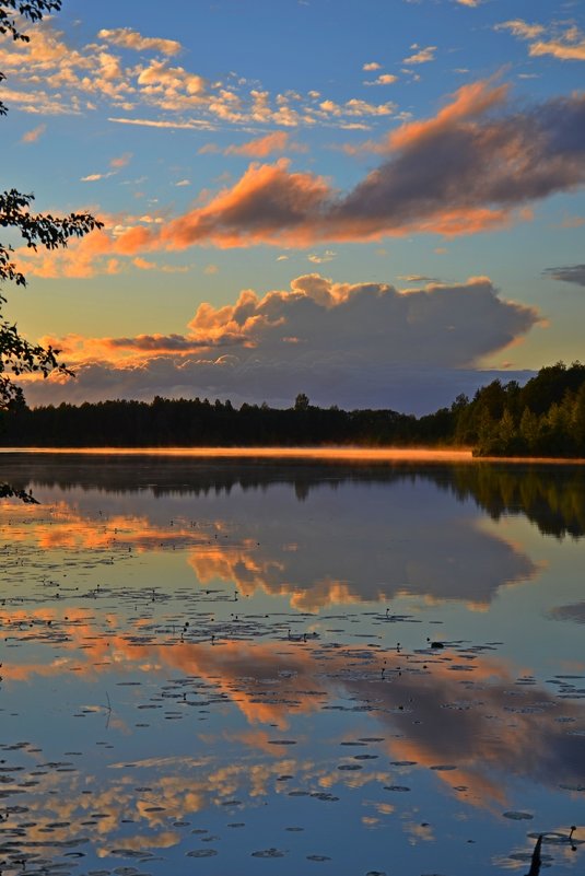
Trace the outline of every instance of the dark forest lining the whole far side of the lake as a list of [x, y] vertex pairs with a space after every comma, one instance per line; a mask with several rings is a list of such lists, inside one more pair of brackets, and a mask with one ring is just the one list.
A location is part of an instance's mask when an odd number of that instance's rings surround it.
[[229, 400], [112, 400], [0, 410], [4, 447], [471, 447], [478, 456], [585, 457], [585, 365], [558, 362], [524, 386], [493, 381], [472, 399], [414, 417], [389, 409], [290, 408]]

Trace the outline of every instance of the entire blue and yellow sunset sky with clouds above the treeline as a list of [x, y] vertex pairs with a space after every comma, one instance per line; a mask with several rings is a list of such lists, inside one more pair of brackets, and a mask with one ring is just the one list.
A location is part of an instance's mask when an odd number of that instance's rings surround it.
[[[0, 3], [1, 5], [1, 3]], [[581, 0], [65, 0], [0, 44], [7, 315], [74, 379], [424, 413], [585, 359]]]

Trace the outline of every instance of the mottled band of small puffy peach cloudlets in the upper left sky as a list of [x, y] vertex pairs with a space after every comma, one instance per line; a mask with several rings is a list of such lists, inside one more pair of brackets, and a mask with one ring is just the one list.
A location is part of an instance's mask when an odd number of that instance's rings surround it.
[[[144, 37], [129, 28], [102, 30], [97, 42], [74, 47], [40, 23], [31, 43], [13, 45], [0, 35], [2, 71], [17, 87], [5, 92], [21, 112], [81, 114], [108, 107], [110, 120], [160, 128], [214, 129], [218, 124], [249, 126], [335, 124], [354, 127], [355, 118], [389, 115], [394, 105], [360, 98], [336, 103], [314, 90], [271, 94], [235, 72], [209, 82], [197, 70], [171, 66], [176, 40]], [[159, 57], [128, 63], [119, 48], [156, 51]], [[319, 105], [317, 101], [324, 105]], [[136, 113], [136, 117], [133, 114]]]

